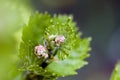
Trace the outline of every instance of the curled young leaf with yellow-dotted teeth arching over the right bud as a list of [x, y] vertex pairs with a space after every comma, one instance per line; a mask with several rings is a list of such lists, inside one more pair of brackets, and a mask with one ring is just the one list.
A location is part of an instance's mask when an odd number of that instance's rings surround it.
[[72, 49], [74, 45], [77, 30], [75, 26], [75, 23], [72, 21], [72, 16], [54, 15], [51, 19], [51, 24], [46, 28], [47, 36], [63, 35], [66, 38], [65, 43], [59, 48], [59, 59], [67, 57], [70, 53], [70, 49]]

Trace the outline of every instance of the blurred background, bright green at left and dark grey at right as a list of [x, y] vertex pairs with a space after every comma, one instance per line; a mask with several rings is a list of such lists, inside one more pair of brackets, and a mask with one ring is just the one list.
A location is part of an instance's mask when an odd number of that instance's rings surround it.
[[[0, 80], [10, 79], [19, 59], [22, 26], [36, 10], [72, 14], [83, 37], [93, 39], [89, 64], [78, 70], [78, 75], [60, 80], [109, 80], [120, 58], [119, 5], [119, 0], [0, 0]], [[5, 78], [9, 74], [9, 79]]]

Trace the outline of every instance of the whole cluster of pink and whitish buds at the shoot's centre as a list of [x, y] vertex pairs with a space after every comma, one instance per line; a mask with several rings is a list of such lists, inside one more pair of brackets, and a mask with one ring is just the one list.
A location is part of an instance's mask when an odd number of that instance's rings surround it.
[[[56, 46], [60, 46], [63, 42], [65, 42], [65, 37], [62, 35], [56, 36], [56, 35], [51, 35], [48, 37], [50, 43], [43, 45], [38, 45], [35, 46], [35, 55], [38, 58], [44, 58], [47, 59], [51, 54], [49, 52], [49, 46], [52, 46], [53, 44], [55, 44]], [[53, 50], [54, 50], [53, 46]], [[53, 53], [56, 54], [56, 53]]]

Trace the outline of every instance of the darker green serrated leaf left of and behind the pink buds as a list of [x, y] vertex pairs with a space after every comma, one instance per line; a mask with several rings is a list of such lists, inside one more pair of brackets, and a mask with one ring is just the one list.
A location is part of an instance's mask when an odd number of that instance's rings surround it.
[[49, 14], [36, 13], [35, 16], [30, 17], [29, 24], [23, 28], [20, 58], [23, 60], [24, 66], [38, 65], [40, 62], [34, 55], [34, 48], [42, 43], [45, 28], [50, 24], [49, 22]]

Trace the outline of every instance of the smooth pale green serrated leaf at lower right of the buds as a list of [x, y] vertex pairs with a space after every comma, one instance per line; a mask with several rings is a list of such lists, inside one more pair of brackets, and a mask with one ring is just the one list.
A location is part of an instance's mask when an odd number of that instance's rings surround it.
[[70, 56], [68, 58], [63, 61], [51, 63], [47, 67], [47, 70], [56, 73], [58, 76], [77, 74], [76, 70], [87, 64], [84, 59], [89, 56], [88, 51], [90, 50], [90, 40], [90, 38], [85, 38], [80, 40], [79, 43], [76, 42], [75, 46], [77, 47], [74, 47], [75, 49], [70, 52]]

